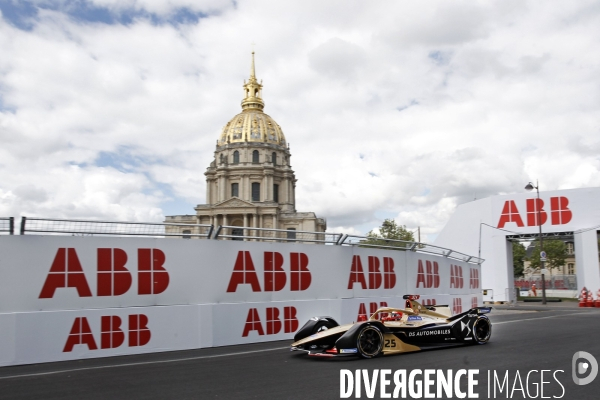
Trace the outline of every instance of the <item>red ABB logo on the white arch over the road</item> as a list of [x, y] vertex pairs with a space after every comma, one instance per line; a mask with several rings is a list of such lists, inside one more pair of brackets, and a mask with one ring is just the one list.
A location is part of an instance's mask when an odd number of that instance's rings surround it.
[[[542, 199], [527, 199], [525, 212], [527, 226], [544, 225], [548, 220], [548, 213], [544, 210], [544, 200]], [[550, 219], [552, 225], [568, 224], [571, 218], [573, 218], [573, 212], [569, 210], [569, 199], [562, 196], [550, 197]], [[504, 228], [504, 225], [508, 222], [514, 222], [518, 227], [525, 226], [514, 200], [504, 202], [502, 214], [498, 221], [498, 228]]]

